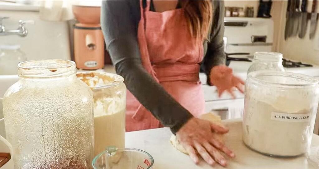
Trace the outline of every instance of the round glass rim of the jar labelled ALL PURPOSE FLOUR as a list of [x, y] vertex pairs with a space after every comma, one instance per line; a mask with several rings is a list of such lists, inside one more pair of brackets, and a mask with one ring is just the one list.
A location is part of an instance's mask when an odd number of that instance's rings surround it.
[[[282, 83], [276, 81], [267, 81], [261, 78], [257, 78], [257, 76], [282, 76], [282, 77], [290, 77], [294, 79], [299, 79], [303, 81], [303, 83]], [[298, 74], [292, 72], [281, 72], [281, 71], [269, 71], [269, 70], [262, 70], [262, 71], [254, 71], [248, 74], [248, 77], [254, 81], [263, 84], [272, 84], [272, 85], [279, 85], [279, 86], [295, 86], [295, 87], [306, 87], [306, 86], [314, 86], [318, 85], [319, 80], [315, 79], [312, 76], [306, 74]]]

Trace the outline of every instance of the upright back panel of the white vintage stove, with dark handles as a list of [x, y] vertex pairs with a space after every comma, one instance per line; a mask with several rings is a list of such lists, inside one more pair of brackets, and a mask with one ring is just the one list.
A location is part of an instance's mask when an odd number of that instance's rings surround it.
[[247, 58], [255, 52], [271, 51], [274, 23], [270, 18], [225, 17], [224, 23], [225, 52], [249, 53], [231, 57]]

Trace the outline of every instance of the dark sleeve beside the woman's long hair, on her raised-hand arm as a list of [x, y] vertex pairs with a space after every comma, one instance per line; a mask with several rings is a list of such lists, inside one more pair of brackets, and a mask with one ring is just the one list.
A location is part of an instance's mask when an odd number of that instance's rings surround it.
[[210, 81], [211, 69], [217, 65], [226, 64], [226, 54], [224, 51], [224, 1], [212, 1], [214, 15], [211, 26], [211, 37], [208, 43], [207, 53], [204, 57], [204, 71], [207, 75], [207, 84], [212, 85]]

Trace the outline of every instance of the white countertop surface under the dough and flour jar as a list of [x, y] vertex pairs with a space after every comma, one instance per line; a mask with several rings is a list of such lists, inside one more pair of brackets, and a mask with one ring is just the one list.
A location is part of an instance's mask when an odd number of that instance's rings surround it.
[[[230, 128], [226, 134], [226, 145], [237, 155], [229, 160], [226, 169], [315, 169], [308, 164], [305, 156], [297, 158], [272, 158], [249, 150], [242, 142], [241, 120], [227, 120], [224, 123]], [[125, 135], [128, 148], [137, 148], [150, 153], [154, 158], [154, 169], [222, 169], [211, 167], [203, 161], [195, 165], [185, 155], [170, 144], [171, 132], [168, 128], [128, 132]], [[319, 136], [314, 135], [312, 146], [319, 145]]]

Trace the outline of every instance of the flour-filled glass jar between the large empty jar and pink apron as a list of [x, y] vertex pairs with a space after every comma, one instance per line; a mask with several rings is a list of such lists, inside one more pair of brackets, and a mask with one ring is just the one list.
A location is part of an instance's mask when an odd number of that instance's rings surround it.
[[95, 155], [108, 146], [124, 149], [126, 87], [122, 76], [105, 72], [77, 74], [93, 91]]

